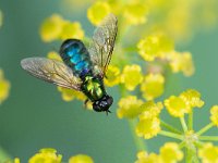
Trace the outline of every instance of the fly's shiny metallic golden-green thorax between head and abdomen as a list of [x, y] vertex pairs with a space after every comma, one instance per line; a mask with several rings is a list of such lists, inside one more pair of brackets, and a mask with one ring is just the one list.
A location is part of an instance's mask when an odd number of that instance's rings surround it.
[[82, 84], [82, 90], [90, 101], [99, 100], [106, 95], [100, 77], [86, 76]]

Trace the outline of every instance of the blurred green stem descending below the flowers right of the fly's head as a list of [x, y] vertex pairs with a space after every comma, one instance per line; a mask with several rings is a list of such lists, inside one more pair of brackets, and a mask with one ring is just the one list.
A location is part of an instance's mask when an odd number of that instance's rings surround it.
[[132, 136], [134, 138], [137, 150], [138, 151], [146, 150], [147, 148], [146, 148], [144, 140], [142, 138], [140, 138], [138, 136], [136, 136], [136, 134], [135, 134], [136, 121], [135, 120], [129, 120], [129, 125], [130, 125], [131, 133], [132, 133]]

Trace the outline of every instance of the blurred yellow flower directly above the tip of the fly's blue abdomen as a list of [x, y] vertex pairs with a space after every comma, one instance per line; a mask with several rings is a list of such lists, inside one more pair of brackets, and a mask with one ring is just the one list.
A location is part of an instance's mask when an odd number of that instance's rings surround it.
[[83, 39], [83, 37], [84, 37], [84, 32], [78, 22], [65, 21], [65, 23], [62, 26], [62, 30], [60, 33], [60, 39], [62, 40], [69, 38]]

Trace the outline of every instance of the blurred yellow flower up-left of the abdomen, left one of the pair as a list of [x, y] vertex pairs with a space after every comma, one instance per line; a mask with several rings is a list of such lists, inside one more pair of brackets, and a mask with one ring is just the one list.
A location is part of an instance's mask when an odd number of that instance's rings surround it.
[[64, 20], [59, 14], [52, 14], [46, 18], [40, 27], [40, 37], [44, 41], [50, 42], [60, 37]]

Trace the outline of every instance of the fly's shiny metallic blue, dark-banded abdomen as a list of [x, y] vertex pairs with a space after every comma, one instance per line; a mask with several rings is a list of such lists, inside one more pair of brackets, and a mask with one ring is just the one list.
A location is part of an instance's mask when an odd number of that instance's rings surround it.
[[60, 55], [78, 77], [85, 76], [92, 70], [89, 53], [81, 40], [65, 40], [60, 48]]

